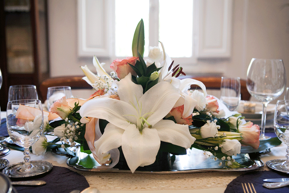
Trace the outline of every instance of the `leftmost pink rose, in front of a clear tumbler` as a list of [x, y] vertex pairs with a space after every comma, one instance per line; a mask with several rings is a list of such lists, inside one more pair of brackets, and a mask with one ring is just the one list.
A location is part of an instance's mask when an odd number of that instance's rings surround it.
[[49, 111], [51, 113], [56, 113], [61, 117], [62, 119], [67, 118], [68, 114], [71, 112], [72, 108], [68, 105], [66, 101], [66, 97], [62, 97], [61, 99], [55, 101]]

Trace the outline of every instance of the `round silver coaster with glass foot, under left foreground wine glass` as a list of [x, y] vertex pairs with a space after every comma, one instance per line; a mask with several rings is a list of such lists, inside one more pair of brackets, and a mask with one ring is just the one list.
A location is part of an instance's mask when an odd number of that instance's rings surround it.
[[24, 162], [15, 163], [3, 170], [9, 177], [30, 177], [44, 174], [52, 169], [52, 164], [47, 161], [30, 161], [30, 167], [23, 167]]

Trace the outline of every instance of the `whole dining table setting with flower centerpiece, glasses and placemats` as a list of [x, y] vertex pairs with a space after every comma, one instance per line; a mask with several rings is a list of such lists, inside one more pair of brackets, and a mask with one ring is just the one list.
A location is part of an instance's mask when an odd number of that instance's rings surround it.
[[[96, 56], [97, 74], [81, 66], [96, 91], [86, 99], [69, 86], [48, 88], [45, 103], [34, 85], [9, 88], [4, 192], [288, 191], [263, 181], [289, 176], [289, 101], [268, 104], [285, 89], [283, 61], [252, 59], [247, 88], [260, 102], [241, 101], [239, 77], [222, 77], [218, 99], [202, 82], [178, 78], [186, 74], [162, 42], [146, 59], [144, 44], [141, 19], [133, 56], [114, 60], [110, 75]], [[23, 185], [33, 181], [41, 184]]]

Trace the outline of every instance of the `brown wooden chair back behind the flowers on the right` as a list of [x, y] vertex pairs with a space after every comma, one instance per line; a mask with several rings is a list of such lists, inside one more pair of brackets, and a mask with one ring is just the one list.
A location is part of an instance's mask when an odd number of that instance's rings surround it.
[[[204, 85], [206, 86], [206, 89], [213, 89], [213, 90], [220, 90], [221, 87], [221, 77], [218, 76], [186, 76], [186, 77], [182, 77], [182, 78], [192, 78], [195, 80], [199, 80], [201, 82], [204, 83]], [[250, 93], [247, 90], [246, 87], [246, 80], [241, 79], [240, 80], [241, 83], [241, 100], [250, 100]], [[192, 85], [191, 89], [196, 89], [198, 88], [198, 86], [196, 85]]]

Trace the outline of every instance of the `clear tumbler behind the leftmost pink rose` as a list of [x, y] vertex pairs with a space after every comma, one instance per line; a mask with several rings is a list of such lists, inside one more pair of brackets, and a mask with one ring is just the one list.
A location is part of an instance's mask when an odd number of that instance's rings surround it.
[[72, 98], [71, 87], [70, 86], [52, 86], [47, 89], [47, 109], [57, 100], [62, 97], [66, 99]]

